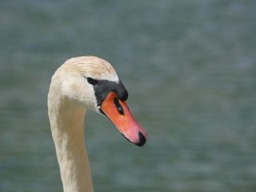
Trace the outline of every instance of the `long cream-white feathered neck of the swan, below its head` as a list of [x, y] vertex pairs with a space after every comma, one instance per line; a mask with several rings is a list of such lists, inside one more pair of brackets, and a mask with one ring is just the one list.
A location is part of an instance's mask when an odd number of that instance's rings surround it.
[[65, 192], [93, 192], [84, 139], [86, 110], [65, 98], [48, 98], [49, 118], [63, 189]]

